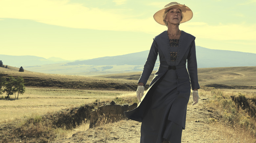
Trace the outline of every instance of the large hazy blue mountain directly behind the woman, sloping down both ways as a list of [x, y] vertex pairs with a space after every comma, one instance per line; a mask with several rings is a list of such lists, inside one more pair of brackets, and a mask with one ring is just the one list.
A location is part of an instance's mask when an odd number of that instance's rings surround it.
[[[105, 56], [90, 60], [75, 61], [69, 65], [144, 65], [149, 50], [121, 56]], [[198, 68], [256, 66], [256, 54], [227, 50], [213, 50], [196, 46]], [[159, 60], [157, 59], [157, 62]], [[158, 67], [158, 64], [155, 65]]]

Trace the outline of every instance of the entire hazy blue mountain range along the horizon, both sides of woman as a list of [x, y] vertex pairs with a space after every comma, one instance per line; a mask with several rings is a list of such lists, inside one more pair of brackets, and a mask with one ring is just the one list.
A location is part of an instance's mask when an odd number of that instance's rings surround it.
[[[73, 62], [62, 61], [63, 59], [56, 57], [45, 59], [37, 56], [7, 55], [0, 55], [0, 60], [4, 65], [22, 66], [28, 71], [91, 76], [142, 71], [148, 52], [149, 50]], [[253, 53], [213, 50], [200, 46], [196, 46], [196, 52], [198, 68], [256, 66], [256, 54]], [[157, 70], [158, 66], [159, 59], [154, 70]]]

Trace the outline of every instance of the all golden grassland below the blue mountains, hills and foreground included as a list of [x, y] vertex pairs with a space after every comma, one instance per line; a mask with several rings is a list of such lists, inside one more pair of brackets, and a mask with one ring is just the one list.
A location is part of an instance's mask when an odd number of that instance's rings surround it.
[[[0, 71], [6, 77], [22, 76], [26, 82], [26, 92], [19, 99], [11, 95], [10, 100], [0, 100], [0, 143], [139, 141], [140, 123], [135, 121], [124, 120], [94, 129], [88, 129], [88, 122], [71, 129], [56, 127], [52, 122], [91, 103], [137, 102], [135, 90], [141, 73], [84, 77], [18, 72], [13, 67]], [[256, 142], [255, 71], [255, 67], [199, 69], [201, 100], [192, 106], [190, 97], [182, 142]]]

